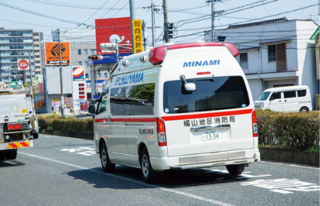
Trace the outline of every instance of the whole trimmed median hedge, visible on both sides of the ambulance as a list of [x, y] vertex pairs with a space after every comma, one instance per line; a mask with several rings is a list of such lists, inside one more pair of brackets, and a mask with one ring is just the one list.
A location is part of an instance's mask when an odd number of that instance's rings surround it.
[[[278, 145], [282, 148], [320, 151], [319, 113], [279, 113], [257, 110], [258, 142], [261, 146]], [[93, 133], [93, 119], [60, 118], [58, 115], [38, 117], [40, 128]]]

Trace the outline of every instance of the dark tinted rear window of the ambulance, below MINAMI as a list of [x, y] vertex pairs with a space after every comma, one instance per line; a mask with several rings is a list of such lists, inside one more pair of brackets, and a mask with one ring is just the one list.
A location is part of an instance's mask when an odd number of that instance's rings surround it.
[[164, 82], [164, 112], [194, 113], [249, 106], [249, 96], [241, 76], [187, 79], [196, 91], [185, 93], [182, 81]]

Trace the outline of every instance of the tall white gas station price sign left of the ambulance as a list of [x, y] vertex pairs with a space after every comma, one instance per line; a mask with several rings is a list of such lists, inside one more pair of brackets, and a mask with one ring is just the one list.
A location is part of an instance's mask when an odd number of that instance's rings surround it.
[[86, 79], [84, 78], [84, 66], [72, 67], [72, 99], [73, 113], [81, 110], [82, 104], [86, 103]]

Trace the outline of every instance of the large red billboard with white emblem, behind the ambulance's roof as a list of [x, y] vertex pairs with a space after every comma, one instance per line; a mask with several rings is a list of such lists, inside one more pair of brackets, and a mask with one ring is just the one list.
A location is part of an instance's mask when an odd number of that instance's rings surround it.
[[119, 53], [132, 53], [130, 17], [96, 19], [95, 26], [97, 54], [102, 54], [101, 43], [117, 43]]

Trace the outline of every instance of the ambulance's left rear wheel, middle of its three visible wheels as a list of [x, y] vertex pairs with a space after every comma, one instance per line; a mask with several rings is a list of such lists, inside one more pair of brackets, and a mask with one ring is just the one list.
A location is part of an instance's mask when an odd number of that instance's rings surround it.
[[141, 174], [143, 175], [143, 180], [145, 183], [153, 183], [155, 181], [155, 178], [151, 175], [153, 173], [153, 169], [151, 167], [150, 159], [149, 159], [149, 153], [147, 148], [143, 148], [140, 154], [140, 168], [141, 168]]

